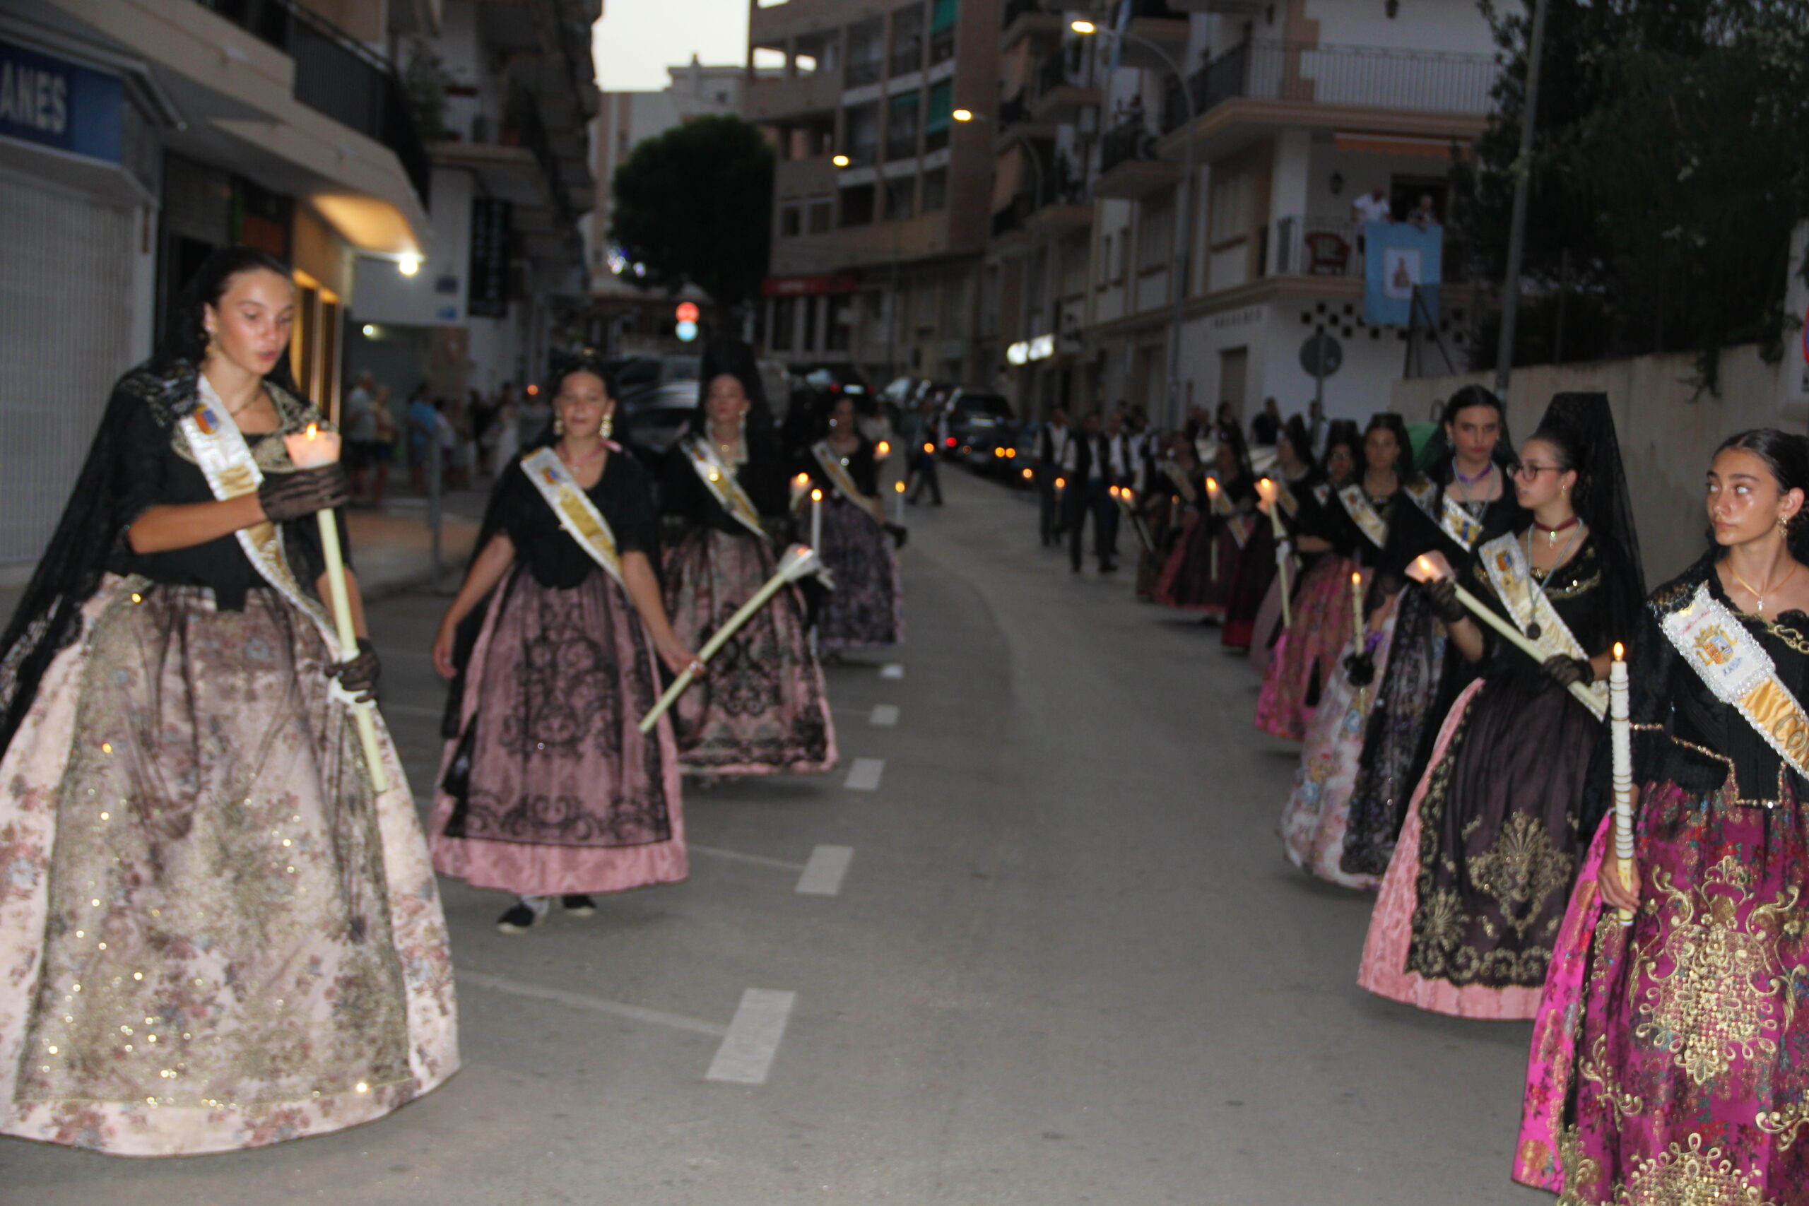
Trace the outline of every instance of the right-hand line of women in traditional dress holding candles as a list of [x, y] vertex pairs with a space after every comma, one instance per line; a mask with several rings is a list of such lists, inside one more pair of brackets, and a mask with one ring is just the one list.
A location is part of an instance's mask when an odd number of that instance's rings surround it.
[[1138, 597], [1248, 649], [1302, 747], [1288, 861], [1375, 893], [1357, 982], [1534, 1022], [1512, 1175], [1565, 1204], [1809, 1202], [1809, 441], [1728, 438], [1708, 550], [1648, 593], [1605, 394], [1518, 447], [1482, 387], [1252, 436], [1056, 414], [1038, 530], [1078, 570], [1091, 515], [1109, 571], [1122, 519]]

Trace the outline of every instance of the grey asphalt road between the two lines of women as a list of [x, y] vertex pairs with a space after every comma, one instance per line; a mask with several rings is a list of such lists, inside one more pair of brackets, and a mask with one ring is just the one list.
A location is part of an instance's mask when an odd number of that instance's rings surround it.
[[[590, 920], [503, 937], [447, 884], [447, 1087], [232, 1155], [0, 1139], [0, 1202], [1549, 1201], [1507, 1175], [1529, 1027], [1357, 989], [1369, 900], [1284, 862], [1297, 750], [1243, 660], [1071, 575], [1022, 495], [944, 490], [908, 644], [829, 671], [843, 768], [687, 792], [691, 881]], [[441, 606], [373, 611], [423, 801]]]

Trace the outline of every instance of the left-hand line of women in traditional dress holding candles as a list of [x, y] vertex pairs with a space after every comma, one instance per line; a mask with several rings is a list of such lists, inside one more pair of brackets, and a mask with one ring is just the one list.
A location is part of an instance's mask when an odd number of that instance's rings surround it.
[[0, 1135], [223, 1152], [432, 1090], [459, 1065], [436, 873], [510, 893], [505, 933], [686, 879], [686, 779], [829, 770], [819, 655], [903, 638], [903, 530], [847, 398], [787, 443], [751, 349], [713, 344], [644, 463], [610, 369], [564, 356], [539, 427], [505, 394], [485, 429], [423, 832], [342, 512], [447, 409], [389, 429], [362, 383], [318, 456], [293, 315], [270, 255], [203, 264], [0, 636]]

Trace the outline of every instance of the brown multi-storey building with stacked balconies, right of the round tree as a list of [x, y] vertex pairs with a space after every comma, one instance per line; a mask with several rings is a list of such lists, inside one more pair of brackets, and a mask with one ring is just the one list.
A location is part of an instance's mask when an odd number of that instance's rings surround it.
[[[751, 0], [743, 116], [778, 152], [758, 345], [977, 382], [1002, 0]], [[979, 121], [953, 121], [968, 108]]]

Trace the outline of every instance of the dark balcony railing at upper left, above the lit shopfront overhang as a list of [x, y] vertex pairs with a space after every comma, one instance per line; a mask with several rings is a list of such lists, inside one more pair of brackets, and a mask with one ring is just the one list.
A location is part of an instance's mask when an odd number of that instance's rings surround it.
[[432, 161], [394, 69], [295, 0], [197, 0], [295, 60], [295, 99], [389, 146], [425, 206]]

